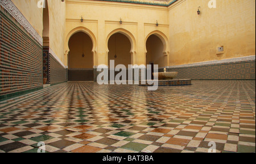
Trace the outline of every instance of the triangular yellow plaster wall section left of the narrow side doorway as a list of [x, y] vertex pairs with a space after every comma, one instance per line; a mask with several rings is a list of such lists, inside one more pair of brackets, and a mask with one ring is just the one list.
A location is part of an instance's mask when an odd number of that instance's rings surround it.
[[36, 32], [43, 36], [43, 8], [38, 8], [36, 0], [12, 0], [14, 5], [25, 16]]

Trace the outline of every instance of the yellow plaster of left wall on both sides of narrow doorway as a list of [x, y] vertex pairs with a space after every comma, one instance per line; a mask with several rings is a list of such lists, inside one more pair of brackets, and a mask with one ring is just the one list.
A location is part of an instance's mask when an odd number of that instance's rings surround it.
[[[43, 37], [43, 8], [38, 8], [39, 0], [12, 0], [36, 32]], [[61, 62], [65, 63], [65, 2], [48, 0], [49, 47]], [[66, 62], [67, 63], [67, 62]], [[67, 65], [67, 64], [66, 64]]]

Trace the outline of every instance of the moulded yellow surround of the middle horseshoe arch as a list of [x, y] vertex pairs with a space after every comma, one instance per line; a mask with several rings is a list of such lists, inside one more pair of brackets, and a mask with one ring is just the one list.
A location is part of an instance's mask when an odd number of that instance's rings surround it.
[[114, 31], [110, 32], [108, 34], [108, 37], [106, 37], [106, 61], [105, 63], [108, 63], [108, 54], [109, 54], [109, 47], [108, 47], [108, 43], [109, 43], [109, 38], [115, 34], [115, 33], [121, 33], [124, 34], [127, 38], [129, 38], [130, 43], [131, 43], [131, 50], [130, 50], [130, 54], [131, 54], [131, 64], [137, 64], [137, 43], [135, 40], [135, 37], [133, 36], [133, 34], [129, 31], [127, 31], [124, 28], [118, 28], [115, 29]]

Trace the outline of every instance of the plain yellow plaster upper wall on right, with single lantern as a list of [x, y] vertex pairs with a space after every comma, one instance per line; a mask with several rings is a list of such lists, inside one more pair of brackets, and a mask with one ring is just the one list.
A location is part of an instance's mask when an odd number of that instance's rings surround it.
[[[208, 2], [180, 0], [169, 8], [171, 66], [255, 55], [255, 1]], [[218, 46], [224, 54], [217, 55]]]

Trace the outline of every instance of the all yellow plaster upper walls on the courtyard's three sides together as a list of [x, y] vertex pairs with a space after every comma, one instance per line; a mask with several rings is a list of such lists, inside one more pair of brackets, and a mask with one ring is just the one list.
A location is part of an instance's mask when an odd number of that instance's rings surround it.
[[[37, 7], [38, 1], [13, 2], [43, 36], [43, 10]], [[208, 2], [179, 0], [170, 7], [160, 7], [48, 0], [49, 46], [65, 66], [69, 38], [77, 31], [89, 34], [93, 41], [93, 66], [108, 64], [108, 39], [114, 32], [129, 38], [132, 64], [146, 64], [146, 41], [151, 34], [157, 34], [163, 42], [164, 66], [255, 55], [255, 1], [216, 0], [216, 8], [209, 8]], [[199, 6], [201, 14], [197, 15]], [[224, 46], [223, 54], [218, 54], [219, 46]]]

